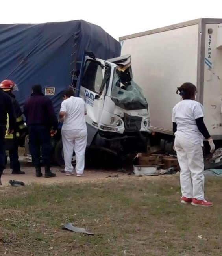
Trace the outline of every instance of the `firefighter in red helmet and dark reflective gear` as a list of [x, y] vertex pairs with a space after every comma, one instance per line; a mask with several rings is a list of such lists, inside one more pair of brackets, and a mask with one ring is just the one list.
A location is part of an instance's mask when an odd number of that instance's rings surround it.
[[[20, 170], [18, 149], [20, 136], [25, 134], [24, 129], [26, 127], [24, 125], [19, 102], [17, 102], [15, 95], [12, 93], [12, 91], [18, 91], [18, 87], [12, 80], [6, 79], [0, 83], [0, 88], [11, 97], [16, 117], [16, 126], [13, 134], [5, 135], [6, 150], [9, 150], [10, 168], [12, 169], [12, 174], [25, 174], [24, 171]], [[9, 120], [7, 119], [7, 128], [8, 126]]]

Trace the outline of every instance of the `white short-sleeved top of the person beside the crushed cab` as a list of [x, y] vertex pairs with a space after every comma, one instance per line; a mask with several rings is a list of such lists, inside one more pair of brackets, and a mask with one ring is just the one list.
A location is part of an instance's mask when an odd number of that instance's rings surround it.
[[60, 112], [66, 112], [62, 130], [83, 130], [86, 129], [85, 102], [82, 98], [71, 96], [61, 104]]

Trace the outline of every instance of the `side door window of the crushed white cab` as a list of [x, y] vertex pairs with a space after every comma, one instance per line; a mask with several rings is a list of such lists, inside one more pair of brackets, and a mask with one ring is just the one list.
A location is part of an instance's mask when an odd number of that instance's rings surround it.
[[102, 80], [102, 67], [100, 63], [97, 61], [87, 60], [83, 73], [82, 86], [90, 91], [100, 94], [102, 89]]

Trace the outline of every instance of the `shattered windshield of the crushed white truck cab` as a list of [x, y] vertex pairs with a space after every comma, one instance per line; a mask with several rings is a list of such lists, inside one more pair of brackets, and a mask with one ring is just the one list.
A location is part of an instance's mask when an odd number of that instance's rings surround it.
[[115, 69], [111, 98], [117, 106], [126, 110], [146, 109], [148, 104], [142, 89], [132, 80], [131, 67]]

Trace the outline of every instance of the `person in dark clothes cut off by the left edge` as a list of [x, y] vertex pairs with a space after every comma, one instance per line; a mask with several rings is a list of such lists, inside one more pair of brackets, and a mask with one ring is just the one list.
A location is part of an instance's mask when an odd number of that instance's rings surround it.
[[0, 89], [0, 185], [1, 176], [3, 170], [5, 169], [5, 135], [6, 135], [6, 124], [7, 124], [7, 115], [9, 117], [9, 128], [7, 134], [13, 134], [15, 129], [15, 113], [11, 98]]

